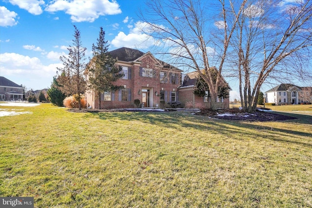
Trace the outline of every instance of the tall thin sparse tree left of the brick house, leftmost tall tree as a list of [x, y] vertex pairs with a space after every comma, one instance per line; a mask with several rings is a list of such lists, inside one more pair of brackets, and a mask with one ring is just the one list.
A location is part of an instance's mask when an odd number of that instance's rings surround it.
[[58, 68], [59, 90], [65, 95], [73, 95], [78, 100], [78, 108], [81, 110], [81, 98], [86, 90], [86, 81], [83, 72], [86, 68], [85, 51], [81, 44], [80, 31], [74, 25], [75, 33], [73, 45], [69, 45], [68, 57], [62, 56], [59, 59], [63, 62], [63, 68]]

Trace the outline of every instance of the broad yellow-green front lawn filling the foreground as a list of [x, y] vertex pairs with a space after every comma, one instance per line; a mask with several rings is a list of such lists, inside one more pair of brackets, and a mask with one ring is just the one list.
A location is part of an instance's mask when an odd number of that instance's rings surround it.
[[0, 196], [32, 196], [38, 208], [312, 207], [310, 115], [0, 109], [30, 112], [0, 117]]

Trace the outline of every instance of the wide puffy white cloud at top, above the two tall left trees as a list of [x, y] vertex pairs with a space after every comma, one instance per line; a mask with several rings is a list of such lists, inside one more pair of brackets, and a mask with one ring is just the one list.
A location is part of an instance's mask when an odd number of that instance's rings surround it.
[[73, 22], [93, 22], [99, 16], [120, 14], [117, 1], [109, 0], [53, 0], [45, 9], [48, 12], [64, 11]]

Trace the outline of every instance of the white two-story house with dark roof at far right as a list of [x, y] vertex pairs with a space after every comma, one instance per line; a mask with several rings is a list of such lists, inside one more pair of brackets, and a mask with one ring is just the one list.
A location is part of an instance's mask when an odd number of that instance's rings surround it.
[[308, 103], [311, 101], [304, 96], [307, 89], [311, 89], [311, 87], [280, 84], [265, 92], [265, 101], [266, 103], [275, 103], [275, 105]]

